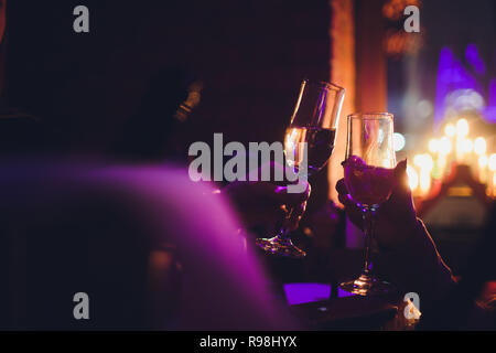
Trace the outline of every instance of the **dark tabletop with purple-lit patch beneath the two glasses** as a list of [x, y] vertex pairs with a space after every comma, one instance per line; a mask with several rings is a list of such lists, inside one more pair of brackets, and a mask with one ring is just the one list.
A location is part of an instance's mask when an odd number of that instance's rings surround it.
[[[327, 298], [290, 306], [298, 320], [311, 330], [412, 330], [417, 321], [407, 320], [402, 296], [362, 297], [343, 296], [337, 290], [341, 281], [359, 275], [363, 264], [362, 249], [333, 249], [324, 260], [312, 264], [314, 259], [288, 260], [267, 259], [273, 278], [283, 284], [323, 284], [331, 286]], [[306, 261], [306, 263], [305, 263]], [[323, 266], [315, 276], [315, 266]], [[288, 295], [288, 293], [285, 293]], [[311, 295], [309, 296], [311, 297]], [[288, 296], [287, 296], [288, 299]], [[311, 300], [311, 299], [309, 299]]]

